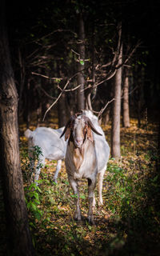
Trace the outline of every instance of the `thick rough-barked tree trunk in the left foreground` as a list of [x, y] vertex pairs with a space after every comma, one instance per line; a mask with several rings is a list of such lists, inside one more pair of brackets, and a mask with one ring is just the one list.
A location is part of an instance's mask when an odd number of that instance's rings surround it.
[[[18, 145], [18, 95], [10, 64], [4, 26], [4, 2], [0, 17], [0, 171], [10, 255], [34, 255], [30, 238]], [[7, 254], [7, 253], [6, 253]]]

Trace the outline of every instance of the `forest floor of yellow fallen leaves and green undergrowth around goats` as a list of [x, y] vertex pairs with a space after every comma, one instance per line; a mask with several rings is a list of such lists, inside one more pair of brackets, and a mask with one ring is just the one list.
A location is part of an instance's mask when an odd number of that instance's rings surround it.
[[[110, 144], [110, 125], [102, 128]], [[21, 134], [25, 129], [25, 126], [20, 126]], [[130, 128], [121, 128], [122, 158], [109, 160], [102, 190], [104, 205], [95, 207], [95, 225], [91, 226], [86, 221], [86, 180], [79, 182], [82, 222], [78, 223], [74, 221], [74, 194], [64, 162], [58, 184], [53, 182], [54, 161], [46, 161], [38, 186], [30, 183], [27, 143], [21, 136], [22, 174], [35, 255], [160, 255], [157, 144], [156, 124], [144, 123], [138, 128], [132, 119]], [[2, 241], [5, 248], [4, 238]]]

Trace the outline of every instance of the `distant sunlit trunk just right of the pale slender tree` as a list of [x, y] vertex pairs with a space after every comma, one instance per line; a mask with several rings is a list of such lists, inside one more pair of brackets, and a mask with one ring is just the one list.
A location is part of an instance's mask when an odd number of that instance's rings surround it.
[[123, 86], [123, 126], [130, 127], [130, 107], [129, 107], [129, 70], [125, 68], [125, 78]]

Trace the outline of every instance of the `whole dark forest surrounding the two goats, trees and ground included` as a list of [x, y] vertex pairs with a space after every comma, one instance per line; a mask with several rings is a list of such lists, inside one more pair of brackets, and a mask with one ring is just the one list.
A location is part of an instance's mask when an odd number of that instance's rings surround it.
[[[159, 10], [156, 0], [0, 2], [0, 254], [159, 255]], [[96, 226], [74, 222], [64, 163], [57, 185], [55, 162], [39, 186], [28, 178], [24, 130], [84, 109], [111, 148]]]

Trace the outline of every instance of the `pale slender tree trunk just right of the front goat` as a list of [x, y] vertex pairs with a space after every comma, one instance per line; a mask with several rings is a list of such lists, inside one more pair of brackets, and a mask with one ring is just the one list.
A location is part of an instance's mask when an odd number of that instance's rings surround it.
[[[118, 46], [118, 66], [122, 64], [122, 27], [118, 29], [119, 46]], [[120, 121], [121, 121], [121, 85], [122, 85], [122, 67], [118, 68], [114, 76], [114, 105], [111, 133], [111, 155], [113, 158], [121, 157], [120, 149]]]

